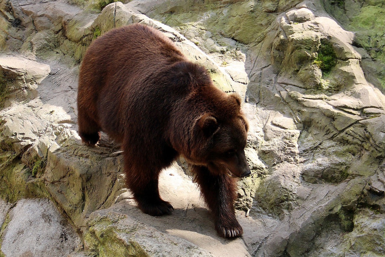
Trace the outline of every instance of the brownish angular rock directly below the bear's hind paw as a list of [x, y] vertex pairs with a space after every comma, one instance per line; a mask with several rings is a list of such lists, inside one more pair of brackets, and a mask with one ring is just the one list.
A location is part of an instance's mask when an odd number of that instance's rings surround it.
[[52, 198], [84, 232], [90, 213], [108, 208], [122, 193], [124, 175], [122, 156], [113, 155], [119, 148], [105, 139], [96, 148], [79, 143], [69, 139], [60, 148], [49, 149], [42, 177]]

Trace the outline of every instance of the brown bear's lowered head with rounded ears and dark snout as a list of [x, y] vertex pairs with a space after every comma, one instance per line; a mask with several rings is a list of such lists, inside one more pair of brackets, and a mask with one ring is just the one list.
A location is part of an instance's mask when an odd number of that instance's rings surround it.
[[194, 130], [201, 140], [199, 149], [191, 152], [195, 164], [213, 174], [228, 172], [243, 178], [251, 173], [244, 153], [248, 124], [240, 105], [239, 95], [232, 93], [196, 119]]

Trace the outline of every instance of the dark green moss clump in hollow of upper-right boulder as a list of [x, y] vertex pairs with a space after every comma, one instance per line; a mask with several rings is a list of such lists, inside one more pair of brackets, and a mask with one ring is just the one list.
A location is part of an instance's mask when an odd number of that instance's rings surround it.
[[333, 45], [326, 39], [321, 39], [318, 47], [317, 57], [313, 64], [318, 66], [323, 73], [329, 73], [330, 70], [337, 64], [336, 52]]

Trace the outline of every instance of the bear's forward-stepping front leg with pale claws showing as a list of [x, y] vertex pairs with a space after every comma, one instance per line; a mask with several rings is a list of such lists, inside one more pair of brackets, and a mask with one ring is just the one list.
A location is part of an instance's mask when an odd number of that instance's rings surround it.
[[215, 229], [221, 237], [238, 237], [243, 234], [234, 212], [235, 179], [227, 174], [213, 175], [207, 167], [192, 166], [195, 181], [214, 215]]

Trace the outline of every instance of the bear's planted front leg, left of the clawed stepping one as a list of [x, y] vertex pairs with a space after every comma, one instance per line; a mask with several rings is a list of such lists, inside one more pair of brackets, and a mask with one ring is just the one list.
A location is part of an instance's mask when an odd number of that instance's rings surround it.
[[160, 169], [140, 169], [130, 161], [125, 162], [127, 184], [134, 194], [138, 208], [151, 216], [171, 214], [172, 205], [159, 195], [158, 177]]

